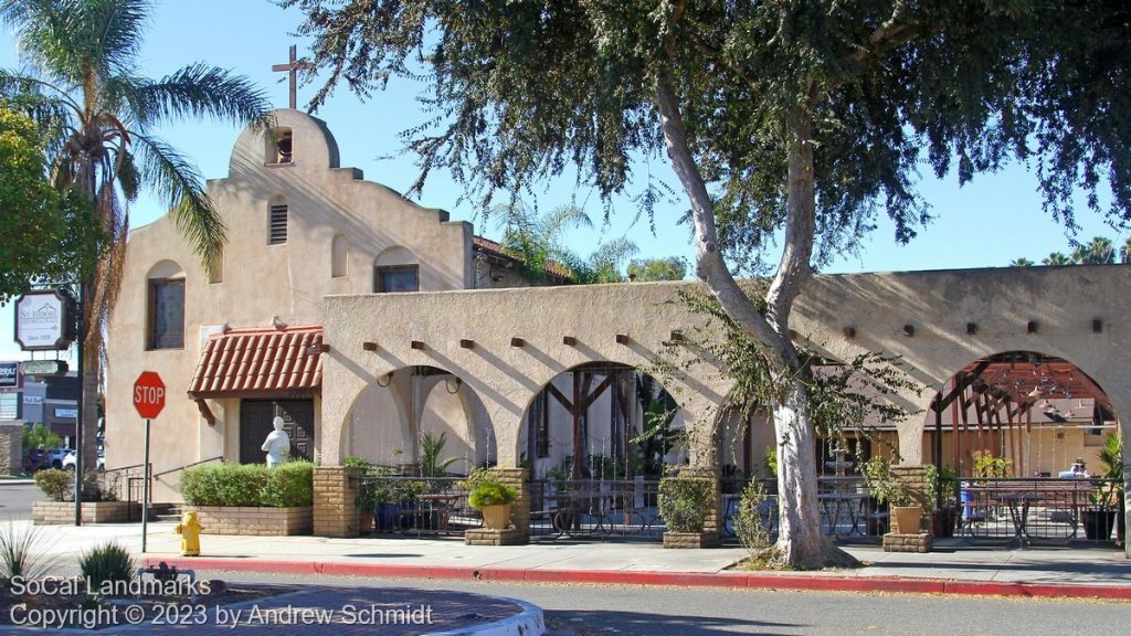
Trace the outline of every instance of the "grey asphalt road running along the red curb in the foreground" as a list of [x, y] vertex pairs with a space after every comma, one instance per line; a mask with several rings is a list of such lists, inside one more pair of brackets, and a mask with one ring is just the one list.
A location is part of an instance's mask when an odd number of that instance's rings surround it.
[[553, 636], [1125, 636], [1131, 604], [906, 594], [530, 585], [216, 573], [228, 581], [458, 590], [541, 607]]

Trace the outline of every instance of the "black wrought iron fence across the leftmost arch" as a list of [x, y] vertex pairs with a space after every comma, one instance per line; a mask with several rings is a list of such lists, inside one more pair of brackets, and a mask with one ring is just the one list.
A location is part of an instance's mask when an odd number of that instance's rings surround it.
[[[359, 483], [359, 516], [370, 528], [362, 533], [456, 535], [483, 525], [467, 504], [463, 478], [363, 476]], [[371, 522], [365, 519], [371, 517]]]

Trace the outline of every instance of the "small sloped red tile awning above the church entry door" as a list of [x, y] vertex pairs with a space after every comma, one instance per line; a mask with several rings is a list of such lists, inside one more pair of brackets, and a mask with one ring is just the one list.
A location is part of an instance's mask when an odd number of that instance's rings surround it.
[[278, 397], [322, 386], [322, 327], [247, 327], [208, 338], [189, 397]]

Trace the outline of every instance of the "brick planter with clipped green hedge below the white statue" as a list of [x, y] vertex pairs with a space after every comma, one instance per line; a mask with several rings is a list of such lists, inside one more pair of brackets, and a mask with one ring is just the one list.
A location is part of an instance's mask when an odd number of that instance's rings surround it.
[[293, 535], [314, 528], [310, 462], [207, 464], [185, 469], [180, 488], [204, 534]]

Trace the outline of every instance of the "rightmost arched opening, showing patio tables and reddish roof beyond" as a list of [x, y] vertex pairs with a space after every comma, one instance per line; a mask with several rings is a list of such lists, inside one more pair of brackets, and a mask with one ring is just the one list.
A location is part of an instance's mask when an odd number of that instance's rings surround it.
[[1070, 360], [1008, 351], [970, 362], [935, 393], [924, 426], [924, 456], [955, 475], [934, 491], [936, 534], [1123, 541], [1123, 437], [1107, 393]]

